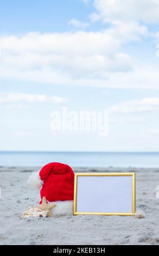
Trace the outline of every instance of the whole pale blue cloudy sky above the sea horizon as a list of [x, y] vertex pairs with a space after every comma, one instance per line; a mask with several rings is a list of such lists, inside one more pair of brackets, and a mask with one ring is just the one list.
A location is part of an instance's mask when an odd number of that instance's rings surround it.
[[[1, 3], [0, 150], [159, 150], [159, 1], [113, 3]], [[51, 131], [63, 106], [109, 111], [109, 135]]]

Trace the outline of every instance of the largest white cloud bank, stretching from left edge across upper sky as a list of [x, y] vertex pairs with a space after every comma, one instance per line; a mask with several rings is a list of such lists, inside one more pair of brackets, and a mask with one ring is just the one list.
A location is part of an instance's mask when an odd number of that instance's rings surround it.
[[131, 70], [121, 45], [146, 34], [146, 27], [125, 23], [101, 32], [1, 36], [0, 78], [107, 87], [112, 72]]

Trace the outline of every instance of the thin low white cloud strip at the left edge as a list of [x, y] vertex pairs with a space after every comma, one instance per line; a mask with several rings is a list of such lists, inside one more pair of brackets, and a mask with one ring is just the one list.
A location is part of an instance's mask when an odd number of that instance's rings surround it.
[[0, 103], [66, 103], [66, 102], [67, 102], [67, 99], [63, 97], [47, 96], [44, 94], [0, 93]]

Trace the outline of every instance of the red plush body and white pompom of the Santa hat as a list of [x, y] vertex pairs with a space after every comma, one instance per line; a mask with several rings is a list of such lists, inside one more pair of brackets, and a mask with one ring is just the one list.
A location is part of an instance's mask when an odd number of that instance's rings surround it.
[[73, 200], [74, 172], [67, 164], [48, 163], [39, 173], [31, 174], [28, 183], [41, 188], [41, 199], [46, 197], [48, 202]]

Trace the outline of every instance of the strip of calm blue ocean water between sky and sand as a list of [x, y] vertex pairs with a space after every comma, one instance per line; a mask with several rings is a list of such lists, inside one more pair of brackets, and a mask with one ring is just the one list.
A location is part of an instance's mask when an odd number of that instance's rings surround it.
[[49, 162], [72, 167], [159, 167], [159, 153], [12, 152], [0, 151], [0, 166], [44, 166]]

